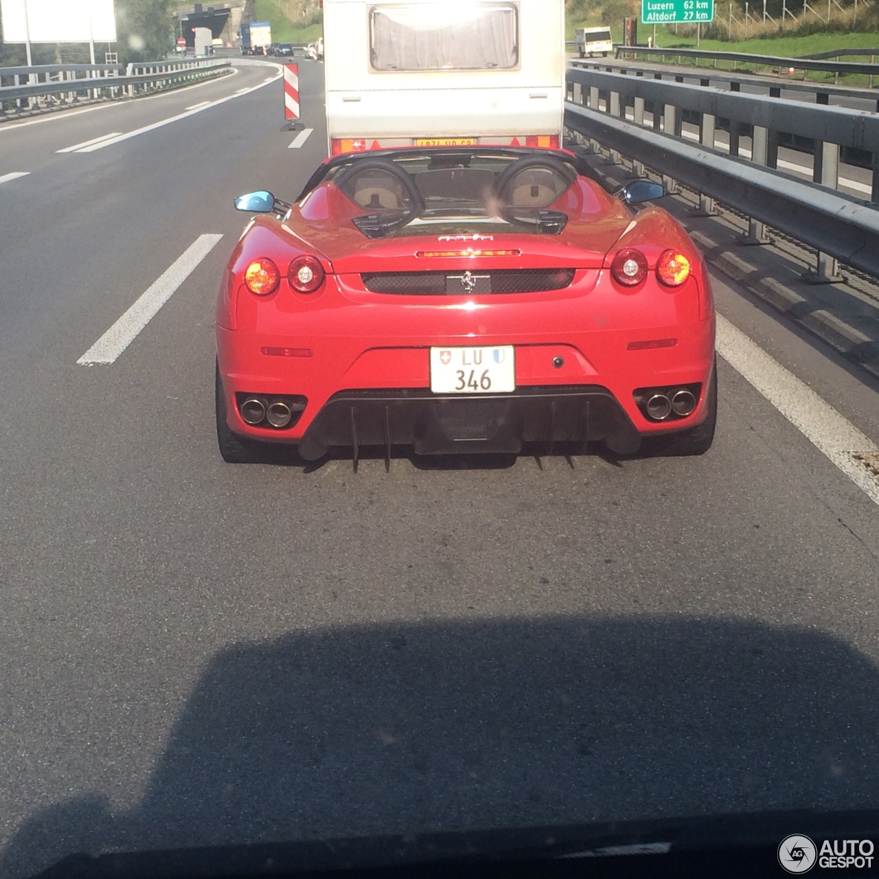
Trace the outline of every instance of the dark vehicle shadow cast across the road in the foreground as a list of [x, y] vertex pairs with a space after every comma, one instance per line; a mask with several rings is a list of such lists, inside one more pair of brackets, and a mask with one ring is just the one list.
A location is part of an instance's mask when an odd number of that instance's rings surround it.
[[[291, 634], [214, 657], [139, 809], [37, 811], [0, 858], [875, 807], [879, 674], [746, 621], [544, 618]], [[795, 828], [791, 830], [794, 832]]]

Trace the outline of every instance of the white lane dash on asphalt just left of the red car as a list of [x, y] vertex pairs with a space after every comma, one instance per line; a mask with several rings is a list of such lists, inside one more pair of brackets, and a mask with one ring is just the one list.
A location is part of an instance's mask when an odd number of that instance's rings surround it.
[[159, 309], [178, 287], [192, 274], [201, 260], [214, 249], [222, 235], [202, 235], [175, 260], [167, 271], [152, 284], [134, 305], [120, 317], [101, 338], [76, 360], [79, 366], [113, 363], [137, 334], [156, 316]]

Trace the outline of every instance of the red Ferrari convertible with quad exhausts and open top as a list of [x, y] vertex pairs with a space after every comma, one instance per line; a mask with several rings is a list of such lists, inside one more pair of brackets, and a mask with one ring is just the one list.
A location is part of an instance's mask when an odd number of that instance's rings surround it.
[[679, 223], [563, 150], [390, 149], [327, 160], [232, 252], [216, 311], [226, 461], [267, 444], [518, 453], [715, 432], [715, 310]]

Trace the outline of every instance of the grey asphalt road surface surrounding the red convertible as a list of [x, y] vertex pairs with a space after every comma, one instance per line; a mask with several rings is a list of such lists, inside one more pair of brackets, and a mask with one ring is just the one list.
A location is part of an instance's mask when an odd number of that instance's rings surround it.
[[[0, 179], [28, 172], [0, 183], [0, 875], [106, 848], [879, 807], [875, 501], [725, 360], [698, 459], [222, 462], [231, 200], [295, 196], [326, 149], [320, 65], [301, 63], [296, 149], [276, 66], [237, 69], [0, 127]], [[203, 235], [222, 238], [119, 359], [77, 365]], [[865, 374], [716, 297], [879, 440]]]

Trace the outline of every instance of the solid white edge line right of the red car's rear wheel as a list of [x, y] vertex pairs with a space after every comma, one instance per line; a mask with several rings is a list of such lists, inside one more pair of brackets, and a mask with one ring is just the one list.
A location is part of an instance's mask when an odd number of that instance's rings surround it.
[[871, 439], [720, 315], [717, 353], [879, 505], [879, 482], [854, 457], [879, 454]]

